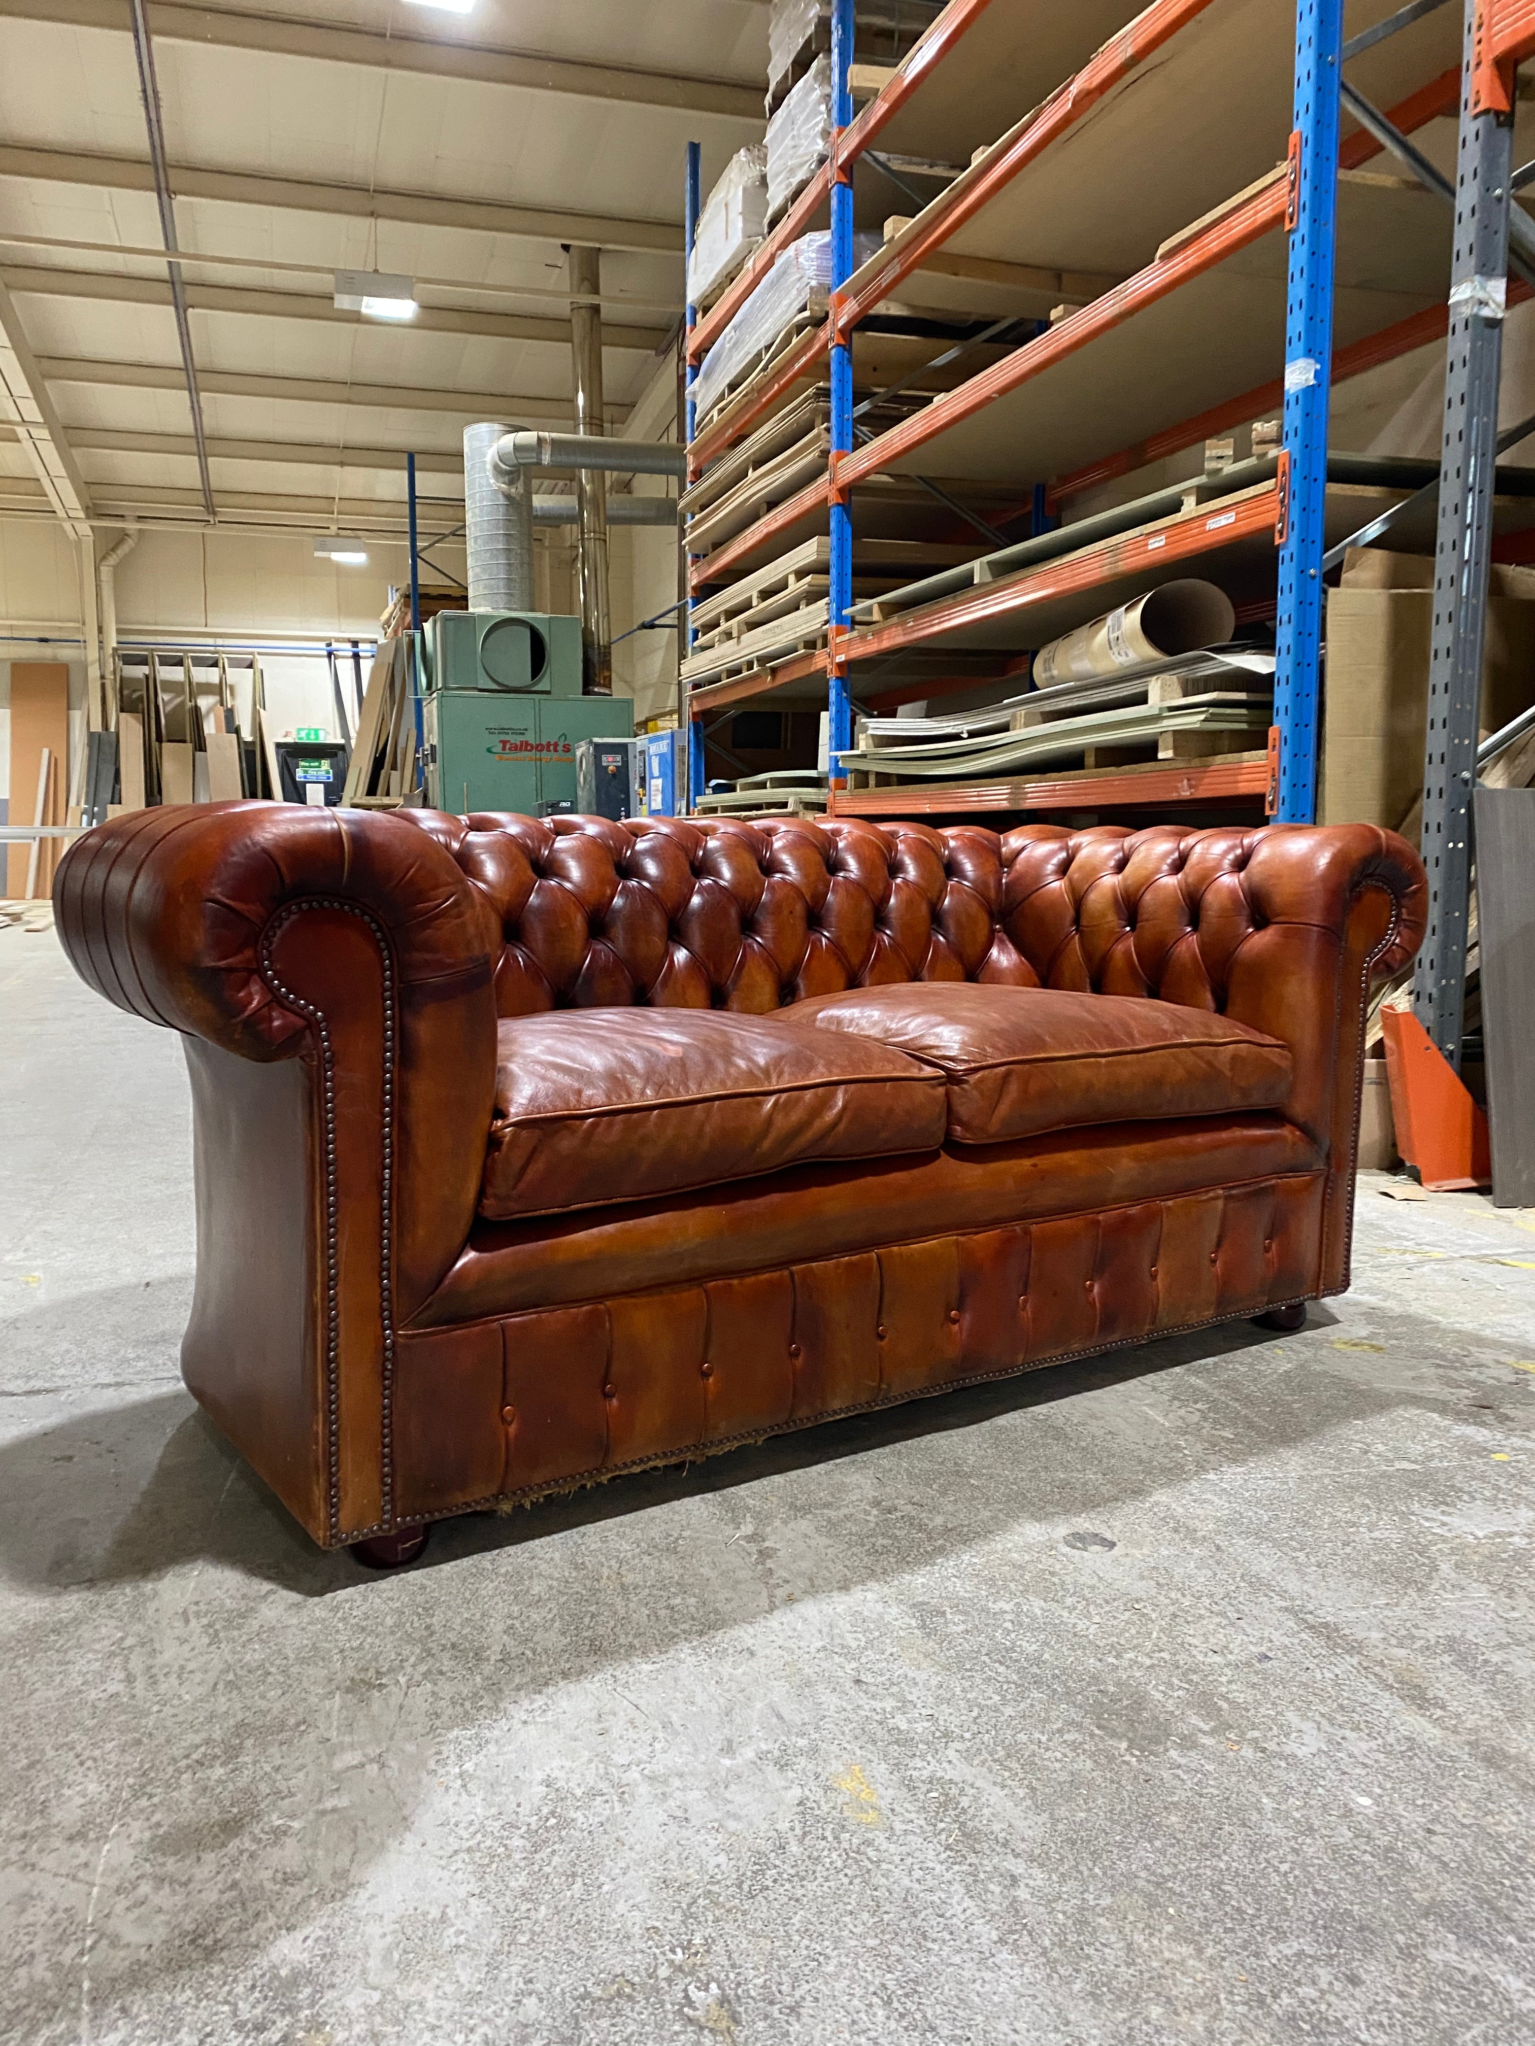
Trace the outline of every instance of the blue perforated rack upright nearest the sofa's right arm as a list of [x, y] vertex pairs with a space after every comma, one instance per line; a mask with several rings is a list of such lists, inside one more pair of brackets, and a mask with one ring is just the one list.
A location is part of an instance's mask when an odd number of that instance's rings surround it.
[[1289, 305], [1285, 462], [1279, 497], [1279, 614], [1273, 718], [1275, 814], [1316, 814], [1316, 712], [1322, 667], [1326, 415], [1332, 379], [1332, 250], [1339, 190], [1343, 0], [1296, 0], [1296, 125], [1289, 137]]

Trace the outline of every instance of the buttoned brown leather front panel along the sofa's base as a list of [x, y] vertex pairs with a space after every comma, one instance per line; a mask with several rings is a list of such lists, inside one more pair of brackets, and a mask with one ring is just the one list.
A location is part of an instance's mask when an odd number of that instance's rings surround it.
[[1324, 1174], [405, 1334], [395, 1512], [426, 1520], [1318, 1291]]

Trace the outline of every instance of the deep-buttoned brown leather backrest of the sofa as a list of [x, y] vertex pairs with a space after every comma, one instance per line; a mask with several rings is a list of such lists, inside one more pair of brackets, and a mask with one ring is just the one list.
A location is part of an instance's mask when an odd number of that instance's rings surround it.
[[489, 904], [503, 1017], [632, 1003], [765, 1013], [892, 980], [1224, 1009], [1232, 960], [1267, 921], [1255, 853], [1283, 837], [401, 814]]

